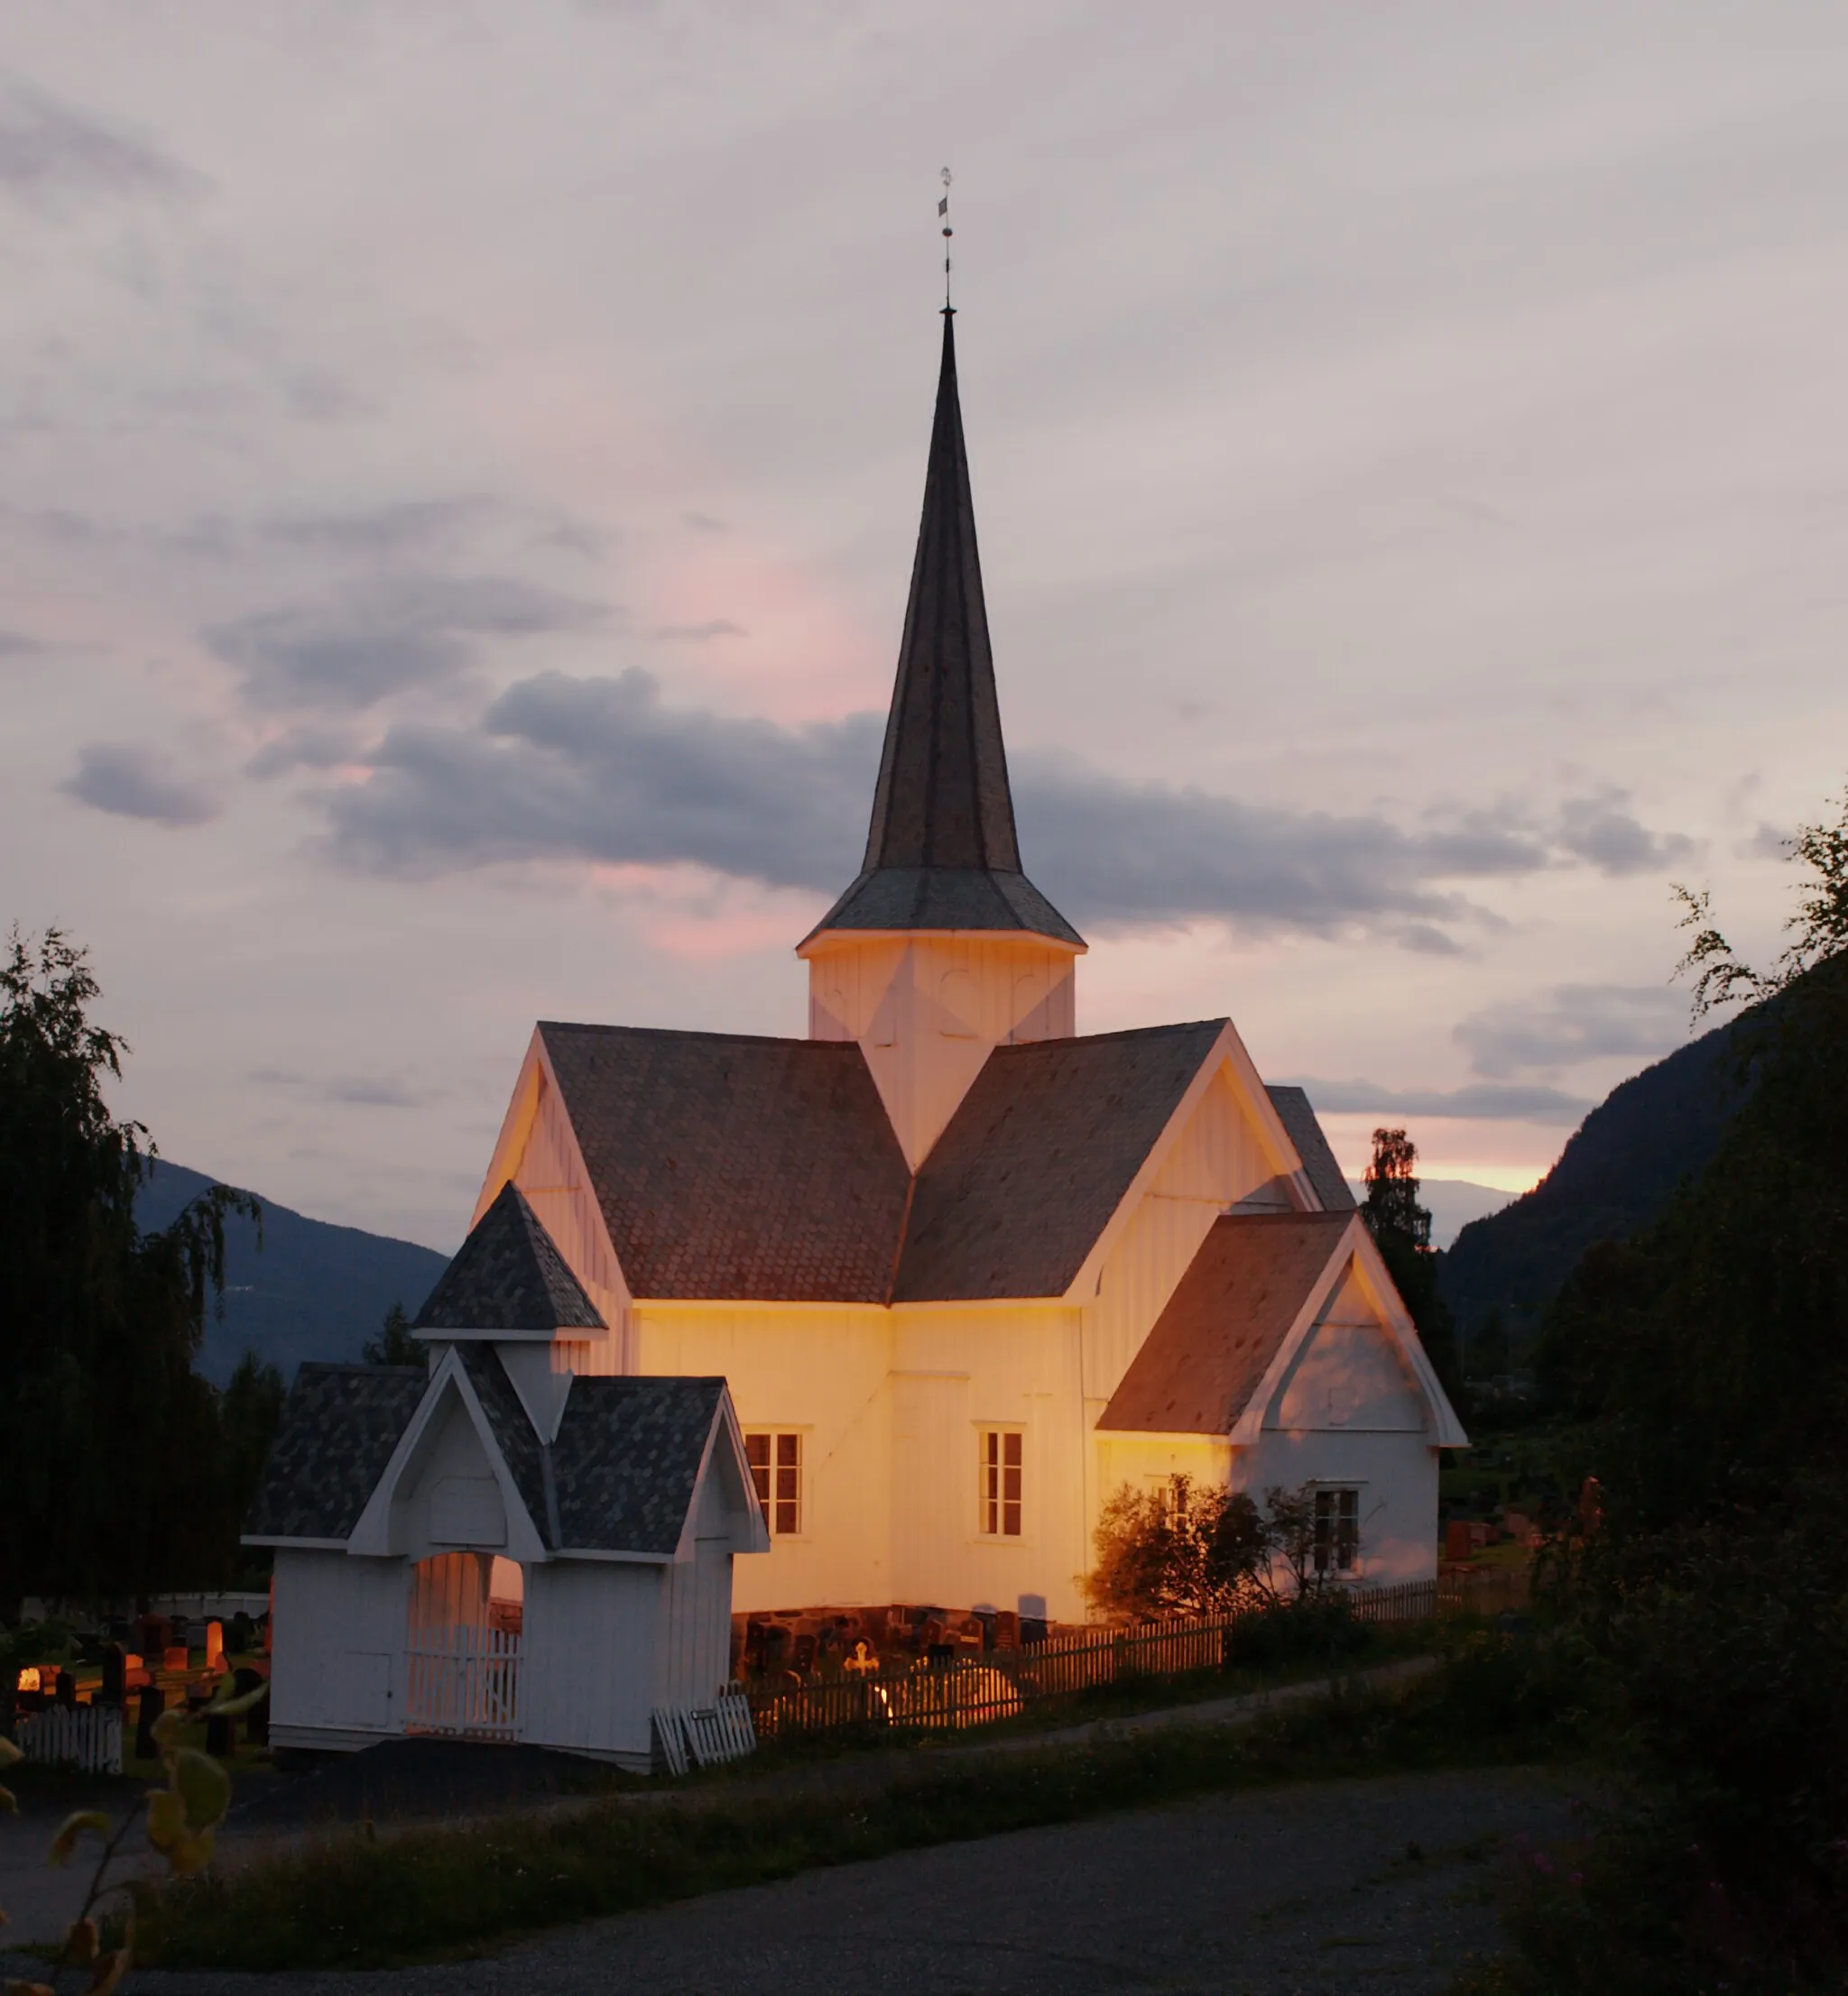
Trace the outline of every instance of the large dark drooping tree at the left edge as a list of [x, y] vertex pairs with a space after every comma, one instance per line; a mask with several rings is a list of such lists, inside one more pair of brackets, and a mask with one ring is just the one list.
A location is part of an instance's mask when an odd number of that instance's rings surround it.
[[246, 1379], [222, 1405], [192, 1371], [224, 1291], [226, 1216], [256, 1220], [258, 1204], [214, 1186], [170, 1226], [138, 1232], [154, 1146], [104, 1098], [128, 1046], [90, 1018], [96, 996], [64, 934], [12, 932], [0, 958], [0, 1601], [228, 1577], [274, 1399], [270, 1381]]

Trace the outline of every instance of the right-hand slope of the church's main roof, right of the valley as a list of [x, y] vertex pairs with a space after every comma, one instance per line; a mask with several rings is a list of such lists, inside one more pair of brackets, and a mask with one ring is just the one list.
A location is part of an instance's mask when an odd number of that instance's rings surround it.
[[891, 1299], [1063, 1295], [1223, 1026], [997, 1046], [917, 1174]]

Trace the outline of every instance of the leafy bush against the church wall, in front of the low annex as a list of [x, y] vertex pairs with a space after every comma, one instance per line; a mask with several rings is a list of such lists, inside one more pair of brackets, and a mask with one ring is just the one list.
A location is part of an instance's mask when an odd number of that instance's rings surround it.
[[1259, 1511], [1245, 1491], [1209, 1489], [1185, 1475], [1159, 1489], [1123, 1483], [1093, 1543], [1085, 1595], [1097, 1613], [1121, 1621], [1231, 1615], [1303, 1595], [1319, 1579], [1307, 1485], [1267, 1491]]

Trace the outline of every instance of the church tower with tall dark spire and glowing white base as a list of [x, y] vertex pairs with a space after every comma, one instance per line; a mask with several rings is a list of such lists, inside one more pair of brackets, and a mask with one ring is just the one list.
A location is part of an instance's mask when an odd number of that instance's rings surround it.
[[957, 399], [955, 313], [859, 876], [797, 946], [809, 1038], [857, 1040], [905, 1162], [993, 1048], [1071, 1038], [1085, 938], [1021, 872]]

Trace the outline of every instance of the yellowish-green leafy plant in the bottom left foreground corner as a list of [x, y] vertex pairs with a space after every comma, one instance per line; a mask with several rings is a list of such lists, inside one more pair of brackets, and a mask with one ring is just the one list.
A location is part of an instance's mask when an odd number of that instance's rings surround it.
[[[270, 1697], [268, 1685], [242, 1695], [232, 1693], [230, 1679], [218, 1689], [218, 1697], [206, 1707], [204, 1717], [236, 1719]], [[112, 1996], [128, 1974], [134, 1960], [136, 1910], [146, 1910], [158, 1902], [156, 1886], [146, 1876], [110, 1880], [108, 1870], [122, 1850], [136, 1818], [146, 1810], [148, 1848], [166, 1864], [170, 1878], [192, 1878], [212, 1858], [212, 1840], [232, 1802], [230, 1774], [210, 1754], [184, 1746], [182, 1737], [188, 1725], [186, 1713], [174, 1709], [154, 1721], [154, 1741], [160, 1764], [166, 1768], [166, 1786], [146, 1790], [132, 1808], [112, 1822], [108, 1810], [72, 1810], [52, 1836], [50, 1862], [68, 1864], [76, 1856], [78, 1842], [86, 1836], [102, 1844], [96, 1868], [90, 1872], [90, 1888], [78, 1906], [76, 1918], [64, 1932], [64, 1946], [52, 1962], [52, 1982], [8, 1982], [6, 1996], [56, 1996], [58, 1978], [64, 1970], [86, 1976], [88, 1996]], [[18, 1746], [0, 1739], [0, 1768], [20, 1758]], [[14, 1796], [0, 1788], [0, 1810], [12, 1810]], [[104, 1930], [96, 1920], [98, 1904], [110, 1894], [128, 1894], [136, 1910], [120, 1922], [114, 1944], [104, 1946]], [[0, 1914], [4, 1920], [4, 1914]]]

